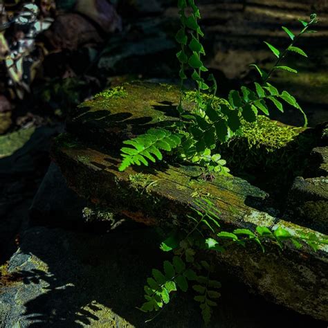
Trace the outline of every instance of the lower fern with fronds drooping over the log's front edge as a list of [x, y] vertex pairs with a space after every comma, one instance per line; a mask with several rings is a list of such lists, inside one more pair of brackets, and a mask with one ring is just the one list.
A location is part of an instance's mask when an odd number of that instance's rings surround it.
[[245, 247], [252, 242], [263, 253], [269, 243], [282, 250], [284, 244], [292, 243], [296, 249], [309, 246], [315, 251], [320, 245], [328, 244], [328, 239], [320, 239], [315, 234], [290, 233], [281, 227], [271, 229], [257, 226], [255, 230], [235, 229], [232, 233], [221, 230], [219, 213], [209, 199], [197, 199], [192, 209], [195, 215], [188, 218], [194, 224], [189, 232], [183, 235], [181, 231], [174, 231], [161, 243], [161, 250], [172, 252], [172, 260], [163, 263], [162, 271], [156, 268], [152, 270], [152, 277], [147, 279], [144, 286], [145, 302], [138, 308], [141, 311], [158, 311], [170, 302], [172, 293], [178, 289], [185, 292], [191, 287], [207, 325], [212, 308], [217, 307], [221, 283], [211, 277], [214, 266], [212, 262], [206, 261], [206, 253], [224, 253], [234, 244]]

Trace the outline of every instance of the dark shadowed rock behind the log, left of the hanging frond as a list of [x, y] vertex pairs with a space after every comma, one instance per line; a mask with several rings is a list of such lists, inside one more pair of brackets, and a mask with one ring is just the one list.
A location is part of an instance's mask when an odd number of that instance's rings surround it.
[[[176, 42], [166, 30], [170, 25], [172, 20], [162, 17], [134, 22], [119, 36], [111, 37], [102, 52], [98, 69], [111, 75], [176, 76], [179, 71]], [[176, 24], [176, 29], [178, 26]]]

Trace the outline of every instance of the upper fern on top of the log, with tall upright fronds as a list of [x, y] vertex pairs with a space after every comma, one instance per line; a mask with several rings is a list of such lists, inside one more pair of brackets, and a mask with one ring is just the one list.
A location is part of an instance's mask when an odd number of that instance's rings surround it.
[[[282, 27], [291, 39], [291, 44], [284, 51], [279, 51], [275, 46], [265, 42], [277, 60], [270, 71], [260, 69], [256, 64], [250, 65], [255, 67], [260, 76], [260, 81], [254, 84], [254, 90], [242, 86], [240, 91], [230, 91], [228, 100], [222, 100], [215, 96], [217, 82], [214, 76], [208, 75], [207, 80], [203, 77], [208, 69], [201, 58], [205, 55], [205, 51], [201, 44], [204, 34], [199, 26], [201, 18], [199, 8], [194, 0], [179, 0], [178, 8], [181, 28], [176, 34], [176, 42], [180, 45], [180, 51], [176, 57], [181, 65], [180, 99], [177, 106], [180, 120], [173, 122], [172, 126], [166, 129], [152, 128], [143, 135], [124, 141], [124, 144], [129, 147], [121, 149], [120, 171], [130, 165], [147, 166], [149, 161], [153, 163], [162, 161], [162, 152], [167, 152], [175, 154], [183, 161], [205, 166], [208, 171], [228, 174], [229, 170], [225, 167], [226, 161], [215, 152], [217, 144], [226, 143], [231, 137], [241, 135], [242, 120], [255, 122], [258, 113], [268, 116], [268, 100], [282, 112], [284, 111], [283, 102], [295, 107], [304, 116], [304, 126], [307, 125], [307, 117], [295, 98], [287, 91], [278, 91], [268, 81], [272, 73], [277, 70], [297, 73], [295, 69], [282, 65], [281, 62], [288, 53], [297, 53], [307, 57], [302, 49], [295, 46], [295, 42], [304, 33], [315, 32], [310, 28], [318, 22], [316, 14], [311, 15], [308, 22], [300, 21], [303, 28], [297, 35], [294, 35], [288, 28]], [[191, 14], [188, 15], [187, 12]], [[193, 97], [196, 107], [193, 111], [183, 108], [183, 100], [186, 96], [184, 81], [188, 79], [188, 73], [197, 85]]]

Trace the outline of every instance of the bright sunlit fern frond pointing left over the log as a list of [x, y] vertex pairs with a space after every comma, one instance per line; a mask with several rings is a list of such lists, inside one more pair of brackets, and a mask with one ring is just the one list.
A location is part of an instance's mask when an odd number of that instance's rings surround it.
[[155, 163], [156, 158], [161, 161], [163, 155], [160, 149], [170, 152], [178, 147], [181, 144], [181, 135], [166, 129], [149, 129], [145, 134], [123, 143], [131, 147], [121, 149], [123, 161], [118, 168], [120, 171], [134, 164], [148, 166], [148, 161]]

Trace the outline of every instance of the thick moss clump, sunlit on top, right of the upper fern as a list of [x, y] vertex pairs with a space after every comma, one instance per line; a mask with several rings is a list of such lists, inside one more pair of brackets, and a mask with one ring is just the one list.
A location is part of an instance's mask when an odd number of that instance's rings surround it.
[[228, 167], [237, 170], [253, 169], [303, 170], [304, 156], [314, 147], [315, 138], [307, 129], [283, 125], [258, 116], [253, 123], [242, 122], [242, 136], [236, 136], [228, 143], [218, 146]]

